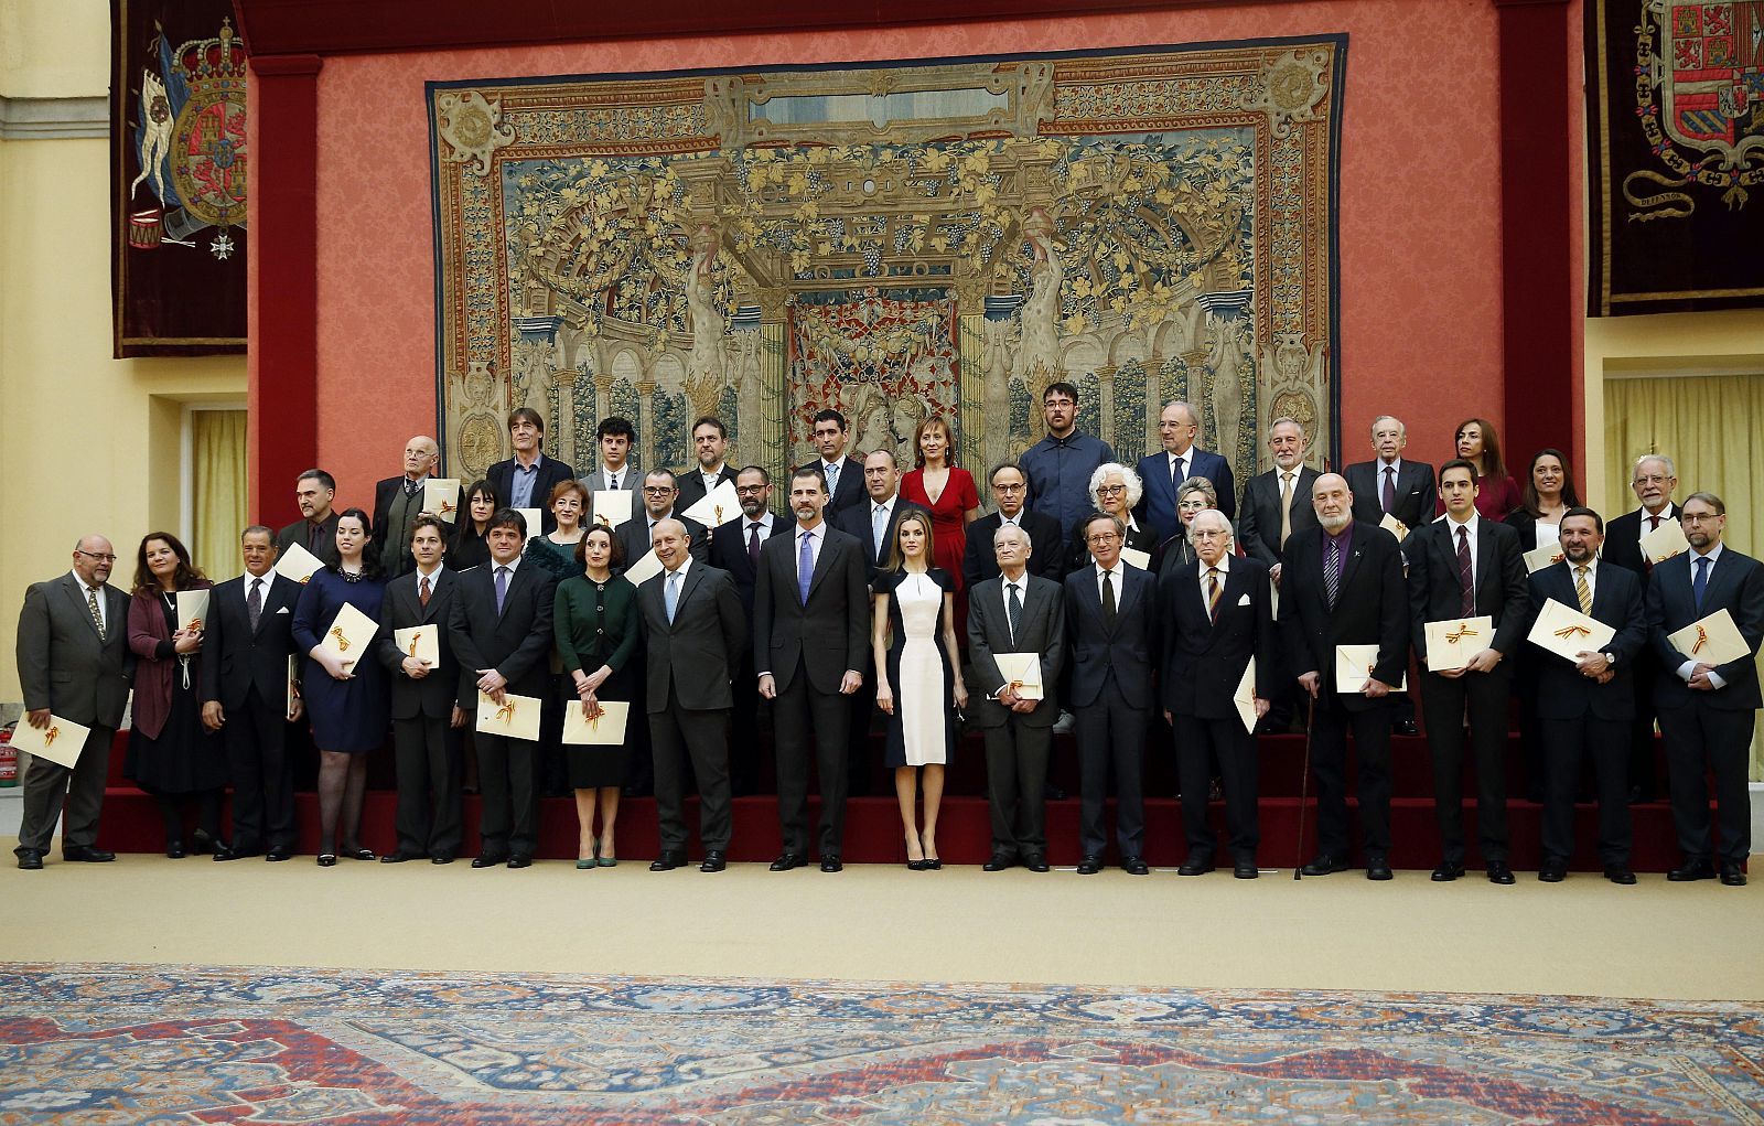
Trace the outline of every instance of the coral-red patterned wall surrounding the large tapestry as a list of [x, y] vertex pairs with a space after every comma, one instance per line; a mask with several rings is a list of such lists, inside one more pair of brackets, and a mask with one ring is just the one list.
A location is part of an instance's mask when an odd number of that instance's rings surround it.
[[[1425, 18], [1418, 18], [1425, 9]], [[1501, 424], [1499, 56], [1489, 0], [1323, 0], [944, 28], [330, 56], [318, 113], [318, 452], [372, 499], [434, 429], [434, 236], [423, 83], [1060, 51], [1348, 32], [1341, 164], [1342, 448], [1378, 413], [1439, 461]], [[273, 302], [265, 282], [261, 302]], [[1563, 420], [1568, 424], [1568, 420]], [[268, 424], [266, 424], [268, 425]]]

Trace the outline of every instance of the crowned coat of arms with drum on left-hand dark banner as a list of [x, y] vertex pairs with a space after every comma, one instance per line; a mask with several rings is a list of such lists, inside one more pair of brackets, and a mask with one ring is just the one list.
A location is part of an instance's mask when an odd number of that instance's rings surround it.
[[[171, 49], [161, 34], [153, 46], [157, 69], [141, 69], [129, 245], [196, 247], [198, 235], [217, 228], [208, 252], [231, 258], [236, 244], [228, 231], [245, 226], [245, 48], [231, 19], [212, 39]], [[134, 206], [143, 194], [159, 203]]]

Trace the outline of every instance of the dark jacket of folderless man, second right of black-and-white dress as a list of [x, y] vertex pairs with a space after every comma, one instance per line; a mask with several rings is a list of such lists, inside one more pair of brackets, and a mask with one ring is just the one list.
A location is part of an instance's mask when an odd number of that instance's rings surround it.
[[1097, 701], [1102, 681], [1115, 672], [1115, 685], [1134, 708], [1152, 708], [1152, 667], [1157, 662], [1157, 582], [1150, 572], [1122, 565], [1115, 595], [1115, 627], [1102, 623], [1102, 597], [1095, 565], [1065, 575], [1065, 635], [1073, 646], [1073, 704]]

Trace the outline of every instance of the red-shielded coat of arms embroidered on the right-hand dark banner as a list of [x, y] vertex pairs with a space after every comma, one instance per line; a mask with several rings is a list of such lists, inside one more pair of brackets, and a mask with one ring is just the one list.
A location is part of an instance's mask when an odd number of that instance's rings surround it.
[[1635, 113], [1667, 168], [1623, 180], [1632, 221], [1681, 219], [1699, 189], [1729, 210], [1764, 184], [1764, 0], [1648, 0], [1635, 28]]

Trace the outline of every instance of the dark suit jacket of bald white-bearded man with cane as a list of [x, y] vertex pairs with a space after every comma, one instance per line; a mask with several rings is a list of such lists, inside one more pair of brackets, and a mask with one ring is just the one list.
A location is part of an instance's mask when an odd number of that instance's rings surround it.
[[[1397, 537], [1378, 524], [1353, 522], [1332, 611], [1323, 586], [1323, 528], [1293, 531], [1281, 561], [1281, 637], [1288, 672], [1318, 672], [1318, 695], [1335, 692], [1335, 646], [1344, 644], [1376, 644], [1372, 676], [1392, 687], [1402, 683], [1409, 667], [1409, 595]], [[1365, 711], [1383, 708], [1388, 697], [1346, 692], [1339, 699], [1348, 711]]]

